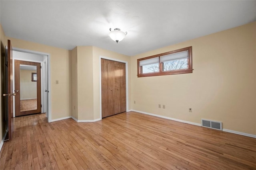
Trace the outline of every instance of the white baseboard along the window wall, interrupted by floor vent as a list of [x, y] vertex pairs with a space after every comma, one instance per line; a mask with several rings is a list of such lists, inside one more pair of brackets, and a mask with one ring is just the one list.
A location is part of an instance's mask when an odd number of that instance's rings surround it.
[[[161, 118], [164, 118], [164, 119], [170, 119], [170, 120], [174, 120], [174, 121], [179, 121], [179, 122], [182, 122], [182, 123], [188, 123], [188, 124], [191, 124], [191, 125], [201, 126], [200, 123], [194, 123], [194, 122], [190, 122], [190, 121], [184, 121], [184, 120], [180, 120], [180, 119], [174, 119], [174, 118], [171, 118], [171, 117], [166, 117], [166, 116], [161, 116], [161, 115], [155, 115], [155, 114], [147, 113], [147, 112], [144, 112], [144, 111], [138, 111], [138, 110], [131, 110], [131, 111], [136, 111], [136, 112], [138, 112], [138, 113], [143, 113], [143, 114], [147, 114], [147, 115], [152, 115], [152, 116], [156, 116], [156, 117], [161, 117]], [[252, 135], [252, 134], [249, 134], [249, 133], [243, 133], [243, 132], [238, 132], [238, 131], [232, 131], [232, 130], [229, 130], [229, 129], [222, 129], [222, 131], [224, 131], [224, 132], [229, 132], [229, 133], [234, 133], [234, 134], [238, 134], [238, 135], [243, 135], [243, 136], [247, 136], [247, 137], [256, 138], [256, 135]]]

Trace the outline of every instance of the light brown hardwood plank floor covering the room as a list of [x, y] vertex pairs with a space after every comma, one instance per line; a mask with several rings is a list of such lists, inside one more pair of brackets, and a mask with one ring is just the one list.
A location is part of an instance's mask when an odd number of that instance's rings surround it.
[[256, 139], [136, 112], [101, 121], [14, 118], [1, 170], [256, 169]]

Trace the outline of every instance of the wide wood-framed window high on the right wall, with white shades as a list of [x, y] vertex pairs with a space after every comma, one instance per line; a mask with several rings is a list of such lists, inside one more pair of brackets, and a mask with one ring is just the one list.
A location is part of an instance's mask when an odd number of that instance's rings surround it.
[[137, 60], [138, 77], [192, 73], [192, 47]]

